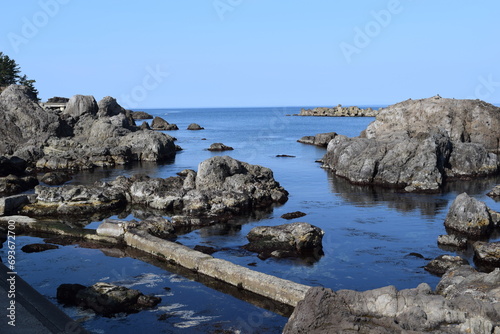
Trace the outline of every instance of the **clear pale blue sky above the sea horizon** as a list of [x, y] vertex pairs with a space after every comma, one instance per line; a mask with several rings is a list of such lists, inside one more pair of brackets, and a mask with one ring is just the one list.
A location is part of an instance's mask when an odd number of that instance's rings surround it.
[[129, 108], [500, 102], [500, 2], [5, 1], [0, 51], [40, 97]]

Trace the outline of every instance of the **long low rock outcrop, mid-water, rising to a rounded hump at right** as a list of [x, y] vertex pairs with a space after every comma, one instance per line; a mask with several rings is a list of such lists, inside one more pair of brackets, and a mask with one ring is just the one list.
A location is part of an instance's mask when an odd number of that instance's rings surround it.
[[198, 172], [185, 170], [167, 179], [118, 177], [93, 186], [37, 186], [36, 201], [24, 206], [28, 216], [82, 215], [109, 211], [127, 204], [176, 214], [176, 224], [210, 224], [273, 204], [288, 192], [269, 168], [216, 156], [200, 163]]

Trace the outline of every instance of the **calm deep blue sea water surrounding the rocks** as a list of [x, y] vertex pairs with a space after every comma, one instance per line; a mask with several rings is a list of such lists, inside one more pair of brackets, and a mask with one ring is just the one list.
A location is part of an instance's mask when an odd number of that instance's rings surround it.
[[[220, 251], [213, 256], [255, 270], [312, 286], [367, 290], [386, 285], [413, 288], [426, 282], [435, 287], [439, 278], [423, 269], [427, 262], [447, 251], [439, 249], [437, 237], [445, 234], [443, 221], [451, 202], [461, 192], [485, 201], [494, 210], [500, 205], [485, 194], [497, 177], [453, 182], [438, 194], [405, 194], [380, 187], [355, 186], [332, 175], [315, 162], [325, 149], [297, 143], [297, 139], [321, 132], [357, 136], [373, 118], [286, 116], [300, 107], [150, 109], [145, 110], [178, 125], [166, 131], [183, 148], [163, 164], [142, 163], [115, 169], [97, 169], [76, 175], [74, 184], [112, 180], [118, 175], [145, 173], [169, 177], [214, 155], [259, 164], [273, 170], [275, 179], [290, 193], [289, 200], [271, 212], [246, 217], [231, 224], [215, 225], [180, 235], [187, 245], [207, 245]], [[188, 131], [190, 123], [205, 128]], [[138, 122], [139, 123], [139, 122]], [[233, 151], [210, 152], [210, 144], [222, 142]], [[276, 157], [279, 154], [290, 158]], [[307, 215], [287, 221], [283, 213]], [[126, 219], [133, 219], [129, 216]], [[267, 259], [244, 251], [248, 231], [260, 225], [304, 221], [325, 231], [324, 255], [316, 259]], [[96, 228], [100, 221], [86, 228]], [[18, 238], [22, 244], [40, 242], [40, 236]], [[4, 256], [5, 248], [0, 249]], [[123, 250], [88, 249], [85, 245], [61, 246], [39, 254], [19, 251], [18, 272], [42, 294], [55, 301], [61, 283], [90, 285], [97, 281], [133, 286], [145, 293], [161, 295], [159, 309], [108, 319], [65, 308], [96, 333], [280, 333], [286, 311], [262, 308], [241, 300], [227, 287], [208, 287], [175, 268], [168, 268], [144, 254]], [[410, 255], [421, 254], [422, 257]], [[472, 263], [471, 253], [459, 254]], [[208, 285], [208, 286], [207, 286]], [[168, 288], [168, 289], [165, 289]], [[229, 289], [230, 290], [230, 289]], [[270, 310], [269, 310], [270, 309]]]

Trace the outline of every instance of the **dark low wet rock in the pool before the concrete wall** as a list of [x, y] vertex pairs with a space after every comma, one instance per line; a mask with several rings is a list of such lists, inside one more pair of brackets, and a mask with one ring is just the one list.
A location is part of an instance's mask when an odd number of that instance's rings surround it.
[[137, 313], [154, 308], [161, 302], [159, 297], [146, 296], [138, 290], [103, 282], [90, 287], [62, 284], [57, 288], [57, 300], [64, 305], [91, 309], [106, 317]]

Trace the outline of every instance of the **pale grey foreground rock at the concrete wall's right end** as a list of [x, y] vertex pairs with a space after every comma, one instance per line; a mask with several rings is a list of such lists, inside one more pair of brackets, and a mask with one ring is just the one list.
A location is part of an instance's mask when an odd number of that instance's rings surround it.
[[449, 270], [436, 291], [428, 284], [398, 291], [311, 288], [283, 333], [498, 333], [500, 270]]

